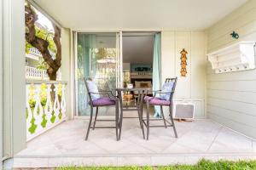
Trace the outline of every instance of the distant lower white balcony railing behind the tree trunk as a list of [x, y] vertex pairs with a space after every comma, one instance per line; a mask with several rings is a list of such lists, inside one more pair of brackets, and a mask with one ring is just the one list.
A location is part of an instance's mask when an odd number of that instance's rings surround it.
[[[46, 70], [26, 66], [26, 79], [49, 80]], [[57, 71], [57, 80], [61, 80], [61, 71]]]

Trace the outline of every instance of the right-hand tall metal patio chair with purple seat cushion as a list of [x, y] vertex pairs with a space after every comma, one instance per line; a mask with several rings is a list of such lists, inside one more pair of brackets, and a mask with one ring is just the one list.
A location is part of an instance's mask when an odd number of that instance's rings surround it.
[[[147, 118], [145, 122], [145, 120], [143, 119], [143, 123], [145, 124], [145, 126], [147, 127], [147, 140], [148, 140], [148, 135], [149, 135], [149, 127], [173, 127], [173, 131], [175, 134], [175, 137], [177, 138], [177, 131], [176, 131], [176, 127], [173, 121], [173, 116], [172, 116], [172, 99], [173, 99], [173, 94], [175, 91], [175, 87], [176, 87], [176, 83], [177, 83], [177, 77], [175, 78], [166, 78], [166, 81], [162, 87], [162, 90], [157, 90], [157, 91], [150, 91], [154, 94], [153, 97], [148, 96], [146, 94], [146, 96], [144, 97], [144, 101], [146, 102], [147, 105]], [[157, 94], [159, 94], [159, 97], [156, 97]], [[160, 114], [161, 117], [160, 118], [150, 118], [149, 119], [149, 106], [150, 105], [160, 105]], [[168, 106], [169, 107], [169, 116], [171, 118], [171, 122], [168, 122], [165, 118], [164, 112], [163, 112], [163, 106]], [[163, 126], [150, 126], [149, 122], [150, 121], [157, 121], [157, 120], [163, 120], [164, 125]], [[166, 122], [168, 123], [168, 125], [166, 124]]]

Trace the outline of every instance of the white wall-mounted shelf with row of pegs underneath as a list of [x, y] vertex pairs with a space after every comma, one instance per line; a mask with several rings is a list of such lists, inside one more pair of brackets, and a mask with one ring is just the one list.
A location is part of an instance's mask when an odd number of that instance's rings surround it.
[[237, 42], [208, 54], [216, 73], [244, 71], [255, 68], [255, 42]]

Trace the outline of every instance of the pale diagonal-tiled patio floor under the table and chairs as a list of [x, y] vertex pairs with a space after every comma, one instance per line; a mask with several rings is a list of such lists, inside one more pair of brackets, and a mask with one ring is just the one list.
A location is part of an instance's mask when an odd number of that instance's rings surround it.
[[[143, 139], [137, 119], [124, 120], [120, 141], [116, 141], [114, 129], [91, 130], [89, 140], [85, 141], [87, 123], [83, 119], [63, 122], [32, 139], [15, 156], [14, 167], [167, 165], [192, 164], [201, 158], [256, 159], [256, 141], [209, 119], [176, 122], [178, 139], [170, 127], [150, 128], [148, 141]], [[107, 124], [97, 125], [101, 123]]]

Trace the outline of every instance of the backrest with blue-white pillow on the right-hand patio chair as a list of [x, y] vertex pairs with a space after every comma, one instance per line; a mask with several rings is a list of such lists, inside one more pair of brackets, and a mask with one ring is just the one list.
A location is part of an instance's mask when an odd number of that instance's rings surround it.
[[[166, 91], [171, 91], [171, 93], [161, 94], [160, 99], [172, 100], [174, 92], [175, 92], [176, 84], [177, 84], [177, 77], [166, 78], [163, 88], [166, 88]], [[170, 88], [172, 88], [172, 89], [170, 89]], [[162, 90], [165, 91], [165, 89], [162, 89]]]

